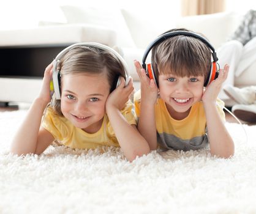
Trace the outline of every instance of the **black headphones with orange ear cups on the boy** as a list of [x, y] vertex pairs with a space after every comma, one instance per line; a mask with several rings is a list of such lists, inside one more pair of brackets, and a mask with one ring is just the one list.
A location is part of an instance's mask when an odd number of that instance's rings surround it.
[[217, 58], [216, 51], [214, 50], [213, 46], [208, 42], [208, 40], [206, 40], [204, 37], [202, 37], [201, 35], [196, 34], [194, 32], [189, 32], [189, 31], [167, 32], [165, 34], [159, 35], [159, 37], [157, 37], [156, 40], [151, 42], [151, 44], [148, 46], [148, 48], [146, 48], [146, 51], [142, 58], [142, 67], [146, 70], [146, 75], [150, 79], [154, 79], [154, 82], [157, 84], [157, 87], [158, 87], [157, 76], [153, 71], [152, 65], [146, 64], [146, 57], [148, 56], [149, 52], [151, 51], [151, 49], [154, 46], [158, 45], [159, 43], [163, 42], [164, 40], [166, 40], [170, 37], [175, 37], [176, 35], [187, 35], [190, 37], [194, 37], [196, 39], [201, 40], [201, 42], [205, 43], [205, 45], [207, 45], [211, 49], [211, 51], [212, 51], [211, 54], [213, 56], [213, 62], [211, 62], [211, 70], [209, 71], [209, 74], [208, 74], [207, 78], [205, 79], [205, 83], [203, 85], [205, 87], [208, 86], [209, 83], [211, 83], [211, 81], [213, 81], [214, 79], [216, 79], [219, 76], [219, 64], [217, 64], [218, 58]]

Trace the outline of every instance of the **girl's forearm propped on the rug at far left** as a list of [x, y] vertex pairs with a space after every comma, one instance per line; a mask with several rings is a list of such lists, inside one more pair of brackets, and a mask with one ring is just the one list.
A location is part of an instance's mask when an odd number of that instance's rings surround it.
[[35, 152], [41, 119], [47, 104], [39, 98], [34, 100], [27, 116], [13, 137], [10, 152], [17, 155]]

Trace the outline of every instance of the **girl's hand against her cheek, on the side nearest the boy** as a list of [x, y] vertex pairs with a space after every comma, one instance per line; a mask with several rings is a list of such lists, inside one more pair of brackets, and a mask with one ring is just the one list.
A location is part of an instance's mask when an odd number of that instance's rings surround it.
[[129, 100], [130, 94], [134, 91], [134, 85], [132, 78], [130, 78], [129, 83], [126, 87], [124, 87], [126, 84], [124, 78], [121, 78], [121, 83], [119, 86], [113, 90], [113, 92], [108, 95], [107, 101], [106, 101], [106, 111], [108, 111], [109, 108], [117, 108], [121, 110], [126, 106], [127, 101]]

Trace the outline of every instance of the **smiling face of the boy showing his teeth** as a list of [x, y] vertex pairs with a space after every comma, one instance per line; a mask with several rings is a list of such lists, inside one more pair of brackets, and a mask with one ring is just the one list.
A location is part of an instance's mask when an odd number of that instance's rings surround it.
[[204, 81], [204, 76], [159, 75], [160, 97], [171, 117], [177, 120], [187, 117], [190, 107], [201, 100]]

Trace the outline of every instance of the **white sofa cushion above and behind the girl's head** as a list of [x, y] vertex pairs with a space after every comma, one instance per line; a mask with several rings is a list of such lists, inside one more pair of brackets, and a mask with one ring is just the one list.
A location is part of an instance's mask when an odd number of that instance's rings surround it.
[[[100, 9], [94, 7], [61, 6], [67, 23], [86, 23], [110, 28], [117, 33], [117, 43], [123, 47], [134, 48], [135, 44], [119, 9]], [[96, 35], [96, 34], [95, 34]], [[103, 35], [100, 33], [100, 35]]]

